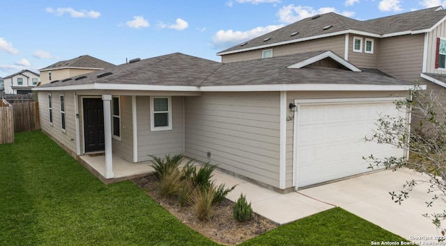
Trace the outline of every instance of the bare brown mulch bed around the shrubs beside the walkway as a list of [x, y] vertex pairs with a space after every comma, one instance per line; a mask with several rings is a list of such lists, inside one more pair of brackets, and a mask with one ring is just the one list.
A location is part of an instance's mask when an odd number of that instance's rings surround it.
[[162, 198], [157, 194], [155, 174], [132, 179], [132, 182], [146, 190], [148, 195], [166, 208], [178, 220], [217, 243], [237, 245], [277, 227], [275, 222], [255, 213], [252, 220], [244, 223], [237, 222], [232, 218], [233, 202], [229, 199], [225, 199], [220, 204], [217, 204], [213, 209], [210, 222], [202, 224], [194, 215], [192, 208], [189, 206], [181, 207], [175, 198]]

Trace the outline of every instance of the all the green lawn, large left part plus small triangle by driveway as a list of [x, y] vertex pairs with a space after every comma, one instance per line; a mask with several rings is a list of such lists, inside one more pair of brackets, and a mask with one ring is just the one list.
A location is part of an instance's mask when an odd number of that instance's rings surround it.
[[[298, 209], [298, 208], [296, 208]], [[399, 238], [341, 208], [244, 245], [370, 245]], [[0, 245], [216, 245], [130, 181], [105, 186], [40, 131], [0, 145]]]

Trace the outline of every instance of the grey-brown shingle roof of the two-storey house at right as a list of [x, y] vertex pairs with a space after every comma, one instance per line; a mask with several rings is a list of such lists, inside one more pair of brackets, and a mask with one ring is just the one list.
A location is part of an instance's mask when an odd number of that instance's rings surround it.
[[[438, 8], [441, 10], [438, 10]], [[446, 17], [446, 10], [443, 10], [441, 6], [378, 19], [369, 19], [367, 21], [351, 19], [336, 13], [326, 13], [320, 15], [320, 17], [316, 19], [313, 17], [301, 19], [298, 22], [249, 40], [243, 46], [238, 44], [229, 49], [225, 49], [224, 51], [220, 51], [218, 54], [238, 51], [241, 49], [254, 49], [255, 47], [274, 45], [281, 42], [293, 42], [293, 40], [312, 38], [318, 35], [326, 35], [348, 30], [364, 31], [376, 35], [399, 33], [403, 31], [420, 31], [426, 28], [431, 28], [444, 17]], [[324, 30], [325, 26], [330, 25], [332, 27]], [[295, 32], [298, 32], [298, 34], [291, 36], [291, 33]], [[263, 41], [266, 38], [270, 38], [270, 40]]]

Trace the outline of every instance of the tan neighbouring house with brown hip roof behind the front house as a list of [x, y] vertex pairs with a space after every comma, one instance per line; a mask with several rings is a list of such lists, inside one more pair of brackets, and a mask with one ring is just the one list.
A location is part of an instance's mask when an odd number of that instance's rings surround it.
[[52, 81], [88, 74], [89, 72], [95, 72], [108, 67], [114, 67], [114, 64], [107, 63], [93, 56], [79, 56], [71, 60], [62, 60], [39, 69], [40, 83], [51, 83]]

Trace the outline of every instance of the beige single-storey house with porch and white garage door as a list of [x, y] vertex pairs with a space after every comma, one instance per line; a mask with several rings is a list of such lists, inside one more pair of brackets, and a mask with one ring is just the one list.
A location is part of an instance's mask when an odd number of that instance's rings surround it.
[[105, 153], [105, 179], [118, 172], [114, 156], [184, 153], [288, 192], [367, 172], [362, 156], [403, 155], [363, 138], [379, 113], [408, 117], [393, 102], [410, 88], [322, 50], [231, 63], [137, 58], [34, 90], [42, 131], [72, 156]]

